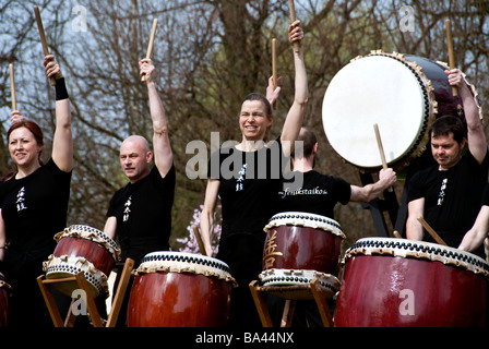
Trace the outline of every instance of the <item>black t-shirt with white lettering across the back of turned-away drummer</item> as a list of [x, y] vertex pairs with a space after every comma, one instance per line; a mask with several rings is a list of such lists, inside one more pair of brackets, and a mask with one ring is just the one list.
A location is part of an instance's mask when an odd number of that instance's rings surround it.
[[333, 219], [336, 203], [346, 205], [349, 202], [351, 186], [342, 178], [314, 170], [294, 171], [293, 176], [284, 181], [284, 188], [278, 192], [281, 212], [307, 212]]

